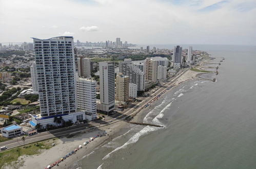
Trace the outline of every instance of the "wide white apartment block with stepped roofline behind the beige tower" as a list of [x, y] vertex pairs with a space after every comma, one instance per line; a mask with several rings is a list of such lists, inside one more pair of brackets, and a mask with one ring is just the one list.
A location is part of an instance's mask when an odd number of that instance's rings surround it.
[[137, 85], [137, 91], [145, 90], [145, 75], [143, 71], [131, 59], [119, 62], [119, 72], [129, 76], [130, 83]]

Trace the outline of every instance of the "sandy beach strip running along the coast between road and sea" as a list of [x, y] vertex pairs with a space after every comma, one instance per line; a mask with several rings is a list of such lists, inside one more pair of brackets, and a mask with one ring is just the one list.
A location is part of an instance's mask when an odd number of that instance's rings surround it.
[[[202, 62], [205, 60], [202, 60]], [[198, 66], [196, 66], [198, 67]], [[202, 67], [200, 64], [199, 67]], [[203, 66], [205, 67], [205, 66]], [[214, 73], [214, 72], [210, 72]], [[157, 104], [165, 94], [169, 93], [169, 91], [172, 91], [173, 89], [179, 87], [182, 83], [190, 80], [196, 80], [196, 79], [203, 79], [201, 77], [198, 77], [200, 74], [205, 74], [202, 72], [194, 72], [191, 70], [186, 71], [183, 75], [181, 75], [178, 79], [173, 81], [174, 87], [171, 88], [171, 90], [167, 90], [168, 87], [166, 87], [162, 92], [161, 96], [157, 97], [155, 101], [150, 102], [150, 105]], [[210, 79], [207, 79], [210, 80]], [[153, 100], [155, 96], [152, 96], [150, 100]], [[151, 107], [151, 106], [150, 106]], [[143, 117], [145, 116], [145, 113], [148, 113], [150, 111], [150, 107], [142, 108], [139, 112], [135, 113], [131, 121], [133, 122], [143, 122]], [[137, 110], [139, 110], [138, 108]], [[112, 124], [102, 126], [100, 128], [92, 129], [91, 131], [84, 131], [80, 133], [73, 134], [73, 137], [67, 138], [67, 136], [58, 138], [57, 144], [52, 147], [49, 150], [43, 151], [41, 154], [33, 155], [33, 156], [21, 156], [19, 157], [19, 162], [23, 163], [23, 166], [19, 168], [46, 168], [47, 165], [51, 165], [57, 160], [60, 160], [63, 156], [74, 150], [78, 145], [82, 145], [83, 148], [78, 150], [76, 154], [71, 155], [66, 160], [62, 161], [58, 166], [54, 166], [53, 168], [70, 168], [74, 167], [74, 163], [77, 160], [81, 160], [86, 155], [94, 152], [97, 147], [100, 147], [102, 144], [105, 144], [106, 142], [109, 142], [112, 140], [115, 135], [118, 135], [121, 133], [121, 130], [124, 129], [126, 126], [130, 125], [129, 123], [125, 121], [117, 121]], [[99, 132], [107, 132], [106, 136], [96, 138], [94, 141], [90, 142], [88, 145], [84, 146], [83, 142], [88, 141], [90, 137], [94, 137]], [[43, 159], [43, 160], [42, 160]], [[43, 162], [44, 161], [44, 162]], [[12, 168], [11, 165], [6, 166], [4, 168]]]

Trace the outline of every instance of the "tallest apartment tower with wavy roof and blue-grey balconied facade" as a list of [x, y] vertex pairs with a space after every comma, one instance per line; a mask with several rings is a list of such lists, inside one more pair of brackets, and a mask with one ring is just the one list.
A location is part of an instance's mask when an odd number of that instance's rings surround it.
[[41, 116], [76, 112], [73, 37], [33, 40]]

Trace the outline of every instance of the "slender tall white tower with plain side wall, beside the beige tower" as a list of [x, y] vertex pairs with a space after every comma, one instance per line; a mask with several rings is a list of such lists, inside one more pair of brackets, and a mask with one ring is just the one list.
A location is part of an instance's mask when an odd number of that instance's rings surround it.
[[100, 69], [100, 98], [97, 103], [97, 110], [110, 112], [114, 109], [115, 103], [115, 72], [114, 62], [99, 62]]

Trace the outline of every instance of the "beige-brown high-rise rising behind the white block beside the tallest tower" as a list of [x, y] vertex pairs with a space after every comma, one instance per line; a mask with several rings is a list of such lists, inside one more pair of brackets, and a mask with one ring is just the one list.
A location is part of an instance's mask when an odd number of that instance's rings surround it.
[[91, 60], [85, 57], [78, 57], [77, 72], [79, 77], [90, 77], [91, 76]]

